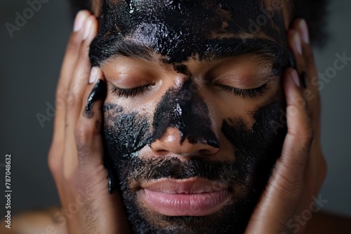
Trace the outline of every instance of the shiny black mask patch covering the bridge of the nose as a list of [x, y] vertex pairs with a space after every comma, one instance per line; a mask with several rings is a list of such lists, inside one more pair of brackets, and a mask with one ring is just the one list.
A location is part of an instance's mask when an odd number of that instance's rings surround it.
[[208, 144], [219, 148], [216, 135], [211, 130], [208, 108], [190, 79], [179, 89], [169, 89], [154, 113], [153, 139], [161, 139], [167, 128], [177, 128], [181, 134], [180, 144], [187, 139], [192, 144]]

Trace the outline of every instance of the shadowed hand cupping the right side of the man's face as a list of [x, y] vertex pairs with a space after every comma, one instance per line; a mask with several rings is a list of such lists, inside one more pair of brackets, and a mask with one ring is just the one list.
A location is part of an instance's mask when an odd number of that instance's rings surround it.
[[[293, 23], [288, 43], [297, 63], [297, 71], [288, 68], [283, 76], [288, 133], [282, 156], [277, 160], [246, 233], [304, 233], [307, 220], [301, 216], [313, 215], [320, 209], [317, 204], [312, 207], [311, 204], [314, 197], [318, 199], [326, 163], [320, 144], [319, 93], [312, 82], [317, 70], [304, 20]], [[305, 77], [299, 78], [298, 74]]]

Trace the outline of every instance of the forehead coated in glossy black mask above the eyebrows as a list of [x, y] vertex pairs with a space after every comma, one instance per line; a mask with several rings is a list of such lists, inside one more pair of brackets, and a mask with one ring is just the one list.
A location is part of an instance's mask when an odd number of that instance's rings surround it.
[[[218, 44], [264, 38], [284, 45], [282, 0], [103, 0], [93, 43], [133, 41], [181, 62]], [[101, 46], [100, 46], [101, 47]], [[105, 53], [107, 54], [107, 53]]]

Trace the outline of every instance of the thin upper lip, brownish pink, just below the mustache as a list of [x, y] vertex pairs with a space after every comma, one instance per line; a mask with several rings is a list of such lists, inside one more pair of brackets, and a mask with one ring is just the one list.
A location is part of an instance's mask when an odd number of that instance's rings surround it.
[[171, 194], [215, 193], [228, 189], [216, 181], [191, 177], [189, 179], [157, 179], [141, 183], [141, 188]]

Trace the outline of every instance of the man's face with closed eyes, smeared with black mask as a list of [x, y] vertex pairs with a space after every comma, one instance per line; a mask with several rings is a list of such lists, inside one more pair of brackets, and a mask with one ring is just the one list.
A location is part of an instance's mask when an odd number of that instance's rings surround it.
[[279, 156], [277, 1], [104, 1], [91, 45], [135, 233], [243, 233]]

